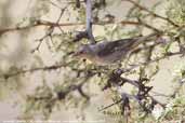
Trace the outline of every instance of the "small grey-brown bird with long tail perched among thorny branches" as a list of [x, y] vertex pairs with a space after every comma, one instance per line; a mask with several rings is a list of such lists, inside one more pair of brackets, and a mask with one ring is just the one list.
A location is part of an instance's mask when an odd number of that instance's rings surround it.
[[141, 43], [155, 37], [157, 33], [151, 33], [144, 37], [121, 39], [116, 41], [103, 41], [95, 44], [83, 44], [75, 53], [75, 56], [85, 58], [97, 65], [115, 64], [135, 50]]

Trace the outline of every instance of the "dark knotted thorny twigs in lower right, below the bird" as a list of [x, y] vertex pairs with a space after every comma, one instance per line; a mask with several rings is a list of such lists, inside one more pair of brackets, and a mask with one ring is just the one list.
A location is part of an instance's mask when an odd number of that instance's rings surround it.
[[[145, 81], [146, 79], [143, 79], [143, 80], [140, 80], [140, 81], [136, 81], [136, 80], [131, 80], [131, 79], [127, 79], [127, 78], [122, 78], [121, 77], [122, 72], [120, 70], [116, 70], [116, 71], [113, 71], [113, 74], [109, 76], [109, 80], [107, 81], [107, 84], [103, 87], [103, 91], [104, 90], [107, 90], [108, 87], [111, 87], [111, 85], [116, 85], [117, 87], [119, 86], [122, 86], [123, 84], [125, 83], [129, 83], [133, 86], [135, 86], [136, 88], [138, 88], [138, 92], [136, 95], [130, 95], [130, 94], [127, 94], [127, 93], [123, 93], [121, 92], [120, 94], [121, 95], [124, 95], [128, 97], [128, 99], [132, 99], [134, 98], [141, 106], [142, 108], [146, 111], [146, 112], [150, 112], [153, 110], [153, 107], [156, 105], [156, 104], [159, 104], [161, 107], [164, 108], [164, 104], [160, 102], [159, 100], [155, 99], [150, 94], [150, 90], [153, 88], [153, 86], [146, 86], [143, 81]], [[119, 87], [120, 88], [120, 87]], [[149, 97], [151, 99], [151, 104], [150, 104], [150, 107], [147, 108], [145, 107], [145, 105], [142, 104], [142, 100]], [[110, 108], [119, 102], [123, 101], [122, 98], [117, 100], [116, 102], [109, 105], [109, 106], [106, 106], [104, 108], [102, 108], [100, 111], [103, 111], [107, 108]], [[123, 105], [123, 107], [128, 107], [129, 104], [127, 104], [125, 106]], [[123, 111], [124, 112], [124, 111]]]

